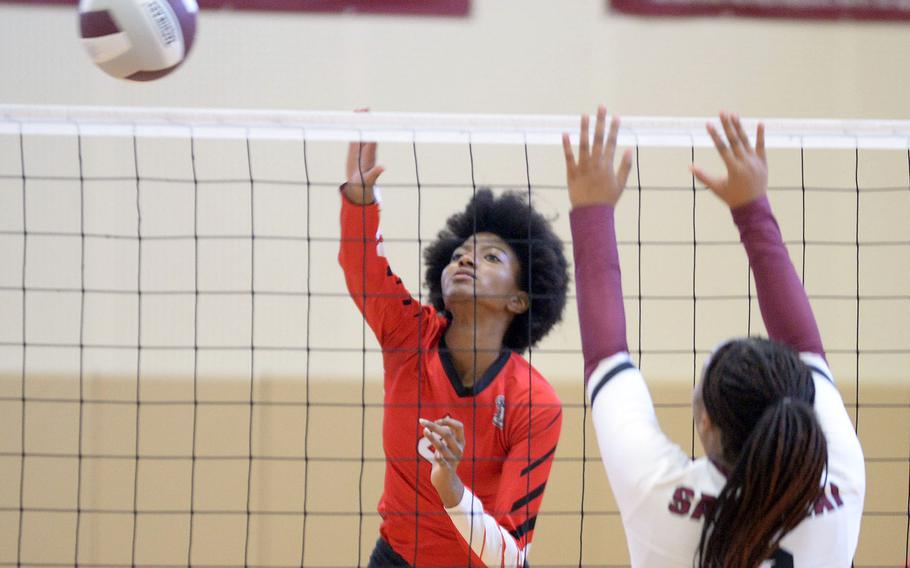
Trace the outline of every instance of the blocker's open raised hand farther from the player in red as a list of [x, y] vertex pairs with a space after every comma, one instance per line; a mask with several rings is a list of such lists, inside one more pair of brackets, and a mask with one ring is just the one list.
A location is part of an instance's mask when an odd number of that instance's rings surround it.
[[689, 170], [720, 197], [730, 209], [755, 201], [768, 190], [768, 159], [765, 156], [765, 125], [759, 123], [755, 134], [755, 148], [735, 114], [720, 113], [720, 123], [727, 135], [727, 143], [713, 124], [708, 123], [708, 134], [714, 140], [717, 152], [727, 166], [727, 177], [708, 175], [692, 164]]

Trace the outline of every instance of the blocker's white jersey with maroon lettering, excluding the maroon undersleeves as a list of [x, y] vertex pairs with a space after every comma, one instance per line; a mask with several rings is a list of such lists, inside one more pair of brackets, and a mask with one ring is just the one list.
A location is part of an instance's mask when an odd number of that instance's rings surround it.
[[[827, 483], [812, 514], [762, 566], [848, 567], [863, 512], [863, 453], [825, 360], [810, 353], [800, 357], [815, 380], [815, 412], [828, 444]], [[601, 361], [587, 394], [632, 566], [691, 568], [705, 514], [726, 478], [707, 458], [691, 460], [661, 431], [648, 388], [628, 353]]]

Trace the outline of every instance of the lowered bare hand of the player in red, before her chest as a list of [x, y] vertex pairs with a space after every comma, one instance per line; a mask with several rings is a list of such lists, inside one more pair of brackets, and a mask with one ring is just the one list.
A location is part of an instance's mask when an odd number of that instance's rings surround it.
[[440, 418], [436, 421], [420, 419], [423, 437], [435, 452], [430, 481], [439, 493], [442, 504], [454, 507], [464, 496], [464, 483], [458, 477], [458, 464], [464, 455], [464, 424], [454, 418]]

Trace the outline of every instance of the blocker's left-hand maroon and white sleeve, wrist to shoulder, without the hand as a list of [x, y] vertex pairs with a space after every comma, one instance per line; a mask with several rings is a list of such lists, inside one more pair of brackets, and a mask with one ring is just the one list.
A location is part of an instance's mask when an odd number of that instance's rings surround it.
[[591, 419], [613, 495], [628, 515], [689, 458], [661, 431], [648, 387], [628, 354], [613, 208], [577, 208], [571, 221]]

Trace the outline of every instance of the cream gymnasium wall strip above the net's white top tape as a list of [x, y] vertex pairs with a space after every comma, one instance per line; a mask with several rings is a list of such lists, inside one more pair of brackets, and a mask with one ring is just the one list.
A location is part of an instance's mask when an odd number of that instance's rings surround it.
[[906, 23], [646, 19], [602, 0], [477, 0], [468, 18], [202, 12], [186, 68], [95, 72], [71, 7], [0, 4], [7, 103], [905, 118]]

